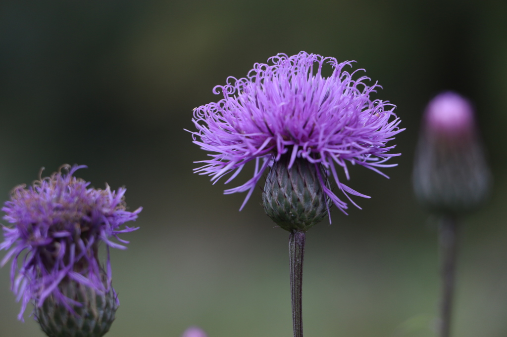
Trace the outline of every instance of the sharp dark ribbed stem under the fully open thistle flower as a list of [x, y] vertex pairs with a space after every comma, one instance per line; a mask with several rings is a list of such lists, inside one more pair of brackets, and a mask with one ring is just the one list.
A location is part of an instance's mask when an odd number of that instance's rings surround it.
[[303, 337], [303, 307], [301, 305], [303, 284], [303, 257], [305, 255], [305, 232], [292, 231], [288, 237], [291, 264], [291, 299], [294, 337]]

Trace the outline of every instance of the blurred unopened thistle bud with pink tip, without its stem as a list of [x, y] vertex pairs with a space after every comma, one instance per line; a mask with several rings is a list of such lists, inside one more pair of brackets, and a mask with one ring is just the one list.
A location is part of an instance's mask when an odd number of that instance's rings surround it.
[[466, 212], [486, 198], [490, 179], [472, 105], [452, 92], [433, 98], [415, 156], [418, 199], [436, 212]]

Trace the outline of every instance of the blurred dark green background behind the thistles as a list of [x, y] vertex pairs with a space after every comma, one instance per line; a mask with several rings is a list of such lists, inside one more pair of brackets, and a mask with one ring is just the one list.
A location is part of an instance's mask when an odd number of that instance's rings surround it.
[[[454, 332], [507, 335], [507, 3], [386, 0], [0, 2], [0, 196], [62, 163], [143, 206], [113, 251], [121, 307], [109, 337], [291, 337], [288, 234], [244, 194], [192, 173], [192, 109], [255, 62], [302, 50], [356, 60], [397, 105], [391, 179], [352, 167], [363, 210], [334, 209], [307, 235], [308, 336], [428, 337], [438, 305], [437, 222], [412, 194], [419, 120], [454, 90], [476, 105], [494, 176], [464, 219]], [[250, 167], [251, 168], [251, 167]], [[249, 173], [231, 183], [237, 186]], [[234, 185], [236, 184], [236, 185]], [[5, 221], [3, 222], [5, 224]], [[3, 256], [5, 252], [0, 253]], [[0, 336], [43, 336], [0, 270]]]

